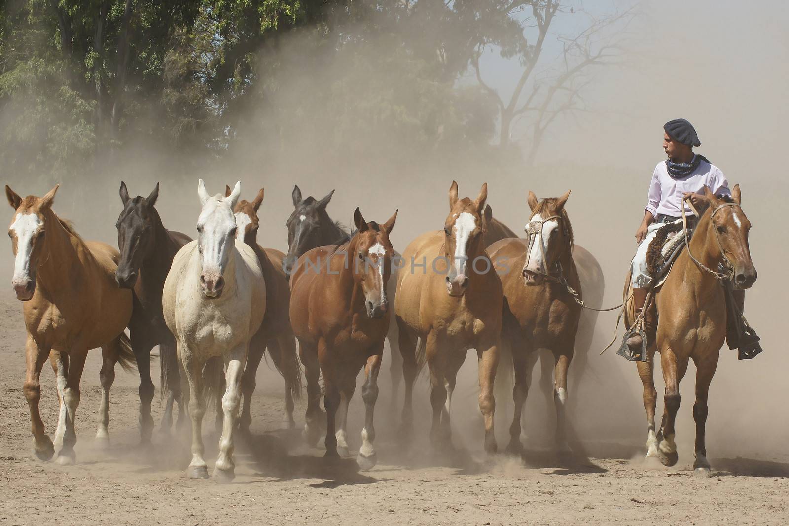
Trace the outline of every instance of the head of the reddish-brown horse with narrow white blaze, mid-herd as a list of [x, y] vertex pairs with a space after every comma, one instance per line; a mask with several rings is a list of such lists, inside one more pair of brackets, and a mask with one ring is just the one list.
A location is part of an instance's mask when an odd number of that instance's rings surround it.
[[391, 275], [391, 260], [394, 248], [389, 241], [389, 233], [394, 228], [397, 211], [380, 225], [374, 221], [365, 222], [357, 207], [353, 212], [353, 223], [357, 233], [349, 245], [349, 257], [353, 258], [353, 280], [361, 285], [365, 294], [365, 308], [370, 318], [380, 319], [387, 314], [389, 300], [386, 285]]

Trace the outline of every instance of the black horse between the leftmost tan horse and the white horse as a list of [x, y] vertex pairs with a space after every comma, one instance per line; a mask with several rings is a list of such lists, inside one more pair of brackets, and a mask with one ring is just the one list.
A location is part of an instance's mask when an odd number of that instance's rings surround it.
[[181, 405], [181, 377], [175, 339], [164, 323], [162, 289], [176, 252], [192, 241], [184, 233], [164, 228], [159, 212], [154, 207], [159, 197], [159, 183], [148, 197], [129, 197], [126, 184], [121, 182], [123, 211], [118, 216], [118, 248], [121, 258], [115, 279], [122, 289], [133, 289], [132, 319], [129, 334], [140, 372], [140, 440], [151, 442], [153, 418], [151, 401], [154, 385], [151, 381], [151, 349], [159, 345], [162, 367], [162, 390], [169, 391], [162, 417], [162, 429], [173, 423], [173, 402], [178, 402], [178, 422], [185, 415]]

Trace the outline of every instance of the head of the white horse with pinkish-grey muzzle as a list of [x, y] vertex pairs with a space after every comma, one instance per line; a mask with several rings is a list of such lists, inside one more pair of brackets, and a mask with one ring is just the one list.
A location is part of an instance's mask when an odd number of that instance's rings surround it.
[[235, 248], [238, 229], [233, 211], [240, 194], [241, 181], [226, 197], [221, 194], [209, 196], [202, 179], [197, 185], [197, 195], [203, 205], [197, 219], [197, 249], [200, 252], [200, 288], [205, 297], [220, 297], [225, 287], [224, 274]]

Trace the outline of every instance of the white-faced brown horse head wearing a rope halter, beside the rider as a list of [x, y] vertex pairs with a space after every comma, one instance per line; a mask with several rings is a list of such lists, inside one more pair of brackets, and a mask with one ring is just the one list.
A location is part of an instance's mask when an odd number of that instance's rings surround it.
[[547, 197], [537, 201], [534, 192], [529, 191], [531, 216], [525, 226], [529, 237], [529, 248], [523, 265], [523, 278], [526, 285], [541, 285], [551, 272], [569, 244], [572, 247], [572, 229], [564, 205], [570, 197], [567, 190], [561, 197]]

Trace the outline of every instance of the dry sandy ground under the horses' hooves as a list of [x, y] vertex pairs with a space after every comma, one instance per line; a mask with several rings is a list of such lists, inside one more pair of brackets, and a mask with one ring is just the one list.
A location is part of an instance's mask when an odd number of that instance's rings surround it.
[[[639, 521], [682, 524], [786, 524], [789, 464], [786, 458], [712, 456], [714, 476], [694, 479], [692, 456], [680, 450], [676, 468], [645, 466], [640, 443], [587, 444], [573, 458], [531, 450], [521, 459], [486, 458], [481, 435], [463, 437], [458, 420], [476, 415], [454, 411], [450, 456], [431, 453], [421, 438], [404, 450], [384, 401], [376, 414], [380, 464], [358, 472], [353, 459], [328, 463], [322, 448], [310, 449], [299, 431], [282, 431], [281, 380], [265, 372], [254, 401], [252, 437], [237, 448], [237, 478], [219, 485], [183, 476], [189, 445], [156, 434], [155, 446], [137, 446], [136, 373], [118, 370], [112, 391], [107, 450], [92, 437], [99, 401], [99, 352], [88, 359], [77, 413], [77, 465], [62, 468], [32, 458], [24, 377], [24, 330], [20, 305], [0, 300], [0, 521], [3, 524], [585, 524]], [[470, 360], [469, 360], [470, 361]], [[265, 367], [261, 367], [265, 368]], [[382, 375], [383, 376], [383, 375]], [[54, 432], [57, 399], [54, 375], [43, 375], [43, 419]], [[383, 392], [383, 389], [382, 389]], [[425, 397], [424, 390], [417, 393]], [[470, 395], [469, 395], [470, 396]], [[155, 417], [163, 405], [155, 402]], [[361, 413], [355, 401], [351, 411]], [[303, 408], [298, 408], [301, 416]], [[297, 416], [298, 418], [298, 416]], [[353, 420], [355, 418], [355, 420]], [[204, 428], [209, 467], [216, 454], [213, 416]], [[359, 417], [350, 425], [358, 446]], [[300, 423], [301, 425], [301, 423]], [[683, 429], [691, 433], [690, 429]], [[426, 435], [425, 424], [417, 435]], [[499, 427], [499, 445], [506, 429]], [[479, 438], [479, 439], [477, 439]], [[594, 453], [594, 454], [593, 454]], [[604, 458], [597, 458], [604, 457]]]

